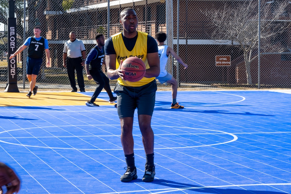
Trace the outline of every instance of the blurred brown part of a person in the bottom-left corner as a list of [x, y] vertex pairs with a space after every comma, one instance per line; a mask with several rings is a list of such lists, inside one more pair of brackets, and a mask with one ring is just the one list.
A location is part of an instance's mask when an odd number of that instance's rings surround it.
[[[3, 193], [2, 187], [6, 186], [6, 193]], [[6, 164], [0, 162], [0, 194], [18, 193], [20, 189], [20, 180], [15, 172]]]

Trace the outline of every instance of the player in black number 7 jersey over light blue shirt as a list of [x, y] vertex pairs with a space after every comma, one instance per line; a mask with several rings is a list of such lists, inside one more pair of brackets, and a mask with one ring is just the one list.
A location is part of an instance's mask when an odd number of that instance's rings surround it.
[[29, 81], [29, 92], [26, 96], [29, 98], [32, 94], [36, 95], [38, 90], [38, 86], [36, 86], [36, 77], [42, 64], [43, 51], [45, 51], [47, 57], [46, 66], [49, 67], [49, 44], [47, 39], [40, 36], [41, 30], [39, 26], [33, 27], [33, 33], [34, 36], [27, 38], [24, 44], [9, 57], [9, 59], [12, 59], [29, 46], [26, 58], [26, 76]]

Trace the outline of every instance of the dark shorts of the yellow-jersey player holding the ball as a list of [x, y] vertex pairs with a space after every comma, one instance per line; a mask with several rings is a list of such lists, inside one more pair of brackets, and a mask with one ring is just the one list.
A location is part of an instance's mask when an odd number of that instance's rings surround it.
[[136, 108], [138, 115], [152, 116], [156, 101], [156, 91], [156, 80], [139, 87], [121, 86], [117, 83], [114, 93], [117, 95], [119, 118], [134, 117]]

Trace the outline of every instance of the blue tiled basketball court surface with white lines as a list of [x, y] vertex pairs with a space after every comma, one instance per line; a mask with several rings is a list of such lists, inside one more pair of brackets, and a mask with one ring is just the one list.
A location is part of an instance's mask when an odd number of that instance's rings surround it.
[[184, 109], [170, 108], [171, 91], [156, 95], [153, 182], [141, 180], [137, 114], [138, 179], [120, 182], [126, 164], [112, 105], [1, 106], [0, 161], [19, 175], [20, 194], [291, 193], [290, 90], [178, 91], [177, 100]]

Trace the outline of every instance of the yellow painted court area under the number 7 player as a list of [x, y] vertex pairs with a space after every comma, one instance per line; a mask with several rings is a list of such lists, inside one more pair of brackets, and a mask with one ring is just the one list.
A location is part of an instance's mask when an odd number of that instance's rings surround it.
[[[78, 106], [85, 105], [92, 93], [86, 92], [38, 92], [30, 98], [27, 92], [0, 92], [0, 106]], [[103, 99], [96, 99], [98, 105], [113, 105]]]

